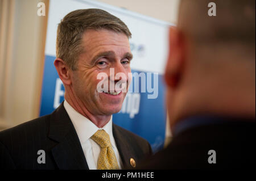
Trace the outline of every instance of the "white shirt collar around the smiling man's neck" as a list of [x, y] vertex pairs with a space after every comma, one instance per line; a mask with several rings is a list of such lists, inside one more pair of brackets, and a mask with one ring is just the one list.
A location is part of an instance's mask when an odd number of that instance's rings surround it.
[[109, 134], [110, 141], [114, 140], [112, 132], [112, 116], [110, 117], [109, 122], [104, 125], [104, 127], [98, 128], [87, 117], [77, 112], [66, 100], [64, 100], [64, 108], [67, 111], [68, 116], [76, 129], [76, 133], [79, 137], [81, 144], [87, 141], [99, 129], [104, 129]]

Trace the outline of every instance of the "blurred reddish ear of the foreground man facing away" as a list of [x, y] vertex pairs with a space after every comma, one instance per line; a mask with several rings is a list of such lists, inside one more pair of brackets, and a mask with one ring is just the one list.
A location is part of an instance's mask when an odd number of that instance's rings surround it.
[[169, 30], [169, 56], [166, 64], [165, 81], [168, 87], [175, 89], [180, 82], [184, 66], [184, 43], [181, 32], [176, 27]]

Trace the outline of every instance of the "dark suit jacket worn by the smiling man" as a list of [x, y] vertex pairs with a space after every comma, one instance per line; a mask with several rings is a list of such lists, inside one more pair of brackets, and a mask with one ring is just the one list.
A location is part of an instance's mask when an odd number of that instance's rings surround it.
[[[113, 136], [123, 167], [130, 158], [139, 162], [151, 154], [143, 138], [113, 124]], [[38, 150], [46, 153], [46, 163], [38, 163]], [[63, 103], [50, 115], [0, 132], [1, 169], [88, 169], [79, 137]]]

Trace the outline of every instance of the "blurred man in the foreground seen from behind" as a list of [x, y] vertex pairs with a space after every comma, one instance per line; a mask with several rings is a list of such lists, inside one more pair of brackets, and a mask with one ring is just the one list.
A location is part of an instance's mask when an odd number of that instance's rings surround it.
[[138, 169], [255, 168], [254, 0], [181, 0], [165, 79], [172, 141]]

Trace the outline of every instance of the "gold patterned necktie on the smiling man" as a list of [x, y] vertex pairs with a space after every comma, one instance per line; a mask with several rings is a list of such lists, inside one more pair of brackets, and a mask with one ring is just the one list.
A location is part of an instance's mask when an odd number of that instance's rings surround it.
[[113, 170], [119, 169], [117, 158], [110, 143], [109, 134], [103, 129], [98, 130], [93, 134], [93, 141], [97, 142], [101, 147], [100, 155], [98, 156], [97, 169], [98, 170]]

